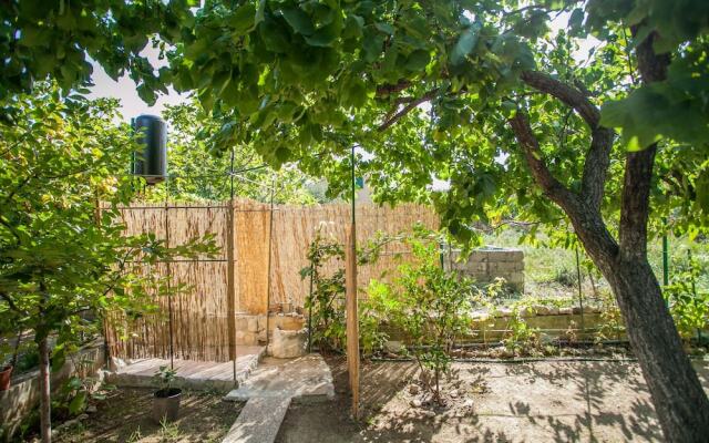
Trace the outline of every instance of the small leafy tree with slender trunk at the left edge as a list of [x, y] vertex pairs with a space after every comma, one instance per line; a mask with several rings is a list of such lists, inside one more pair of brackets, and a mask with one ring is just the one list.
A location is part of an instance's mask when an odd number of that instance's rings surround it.
[[185, 289], [144, 266], [216, 246], [207, 237], [167, 248], [154, 234], [125, 235], [117, 207], [135, 184], [121, 172], [136, 145], [130, 128], [112, 122], [115, 101], [62, 99], [44, 84], [1, 104], [12, 122], [0, 124], [0, 316], [34, 334], [47, 443], [50, 363], [61, 368], [83, 332], [101, 331], [106, 312], [153, 311], [151, 295]]

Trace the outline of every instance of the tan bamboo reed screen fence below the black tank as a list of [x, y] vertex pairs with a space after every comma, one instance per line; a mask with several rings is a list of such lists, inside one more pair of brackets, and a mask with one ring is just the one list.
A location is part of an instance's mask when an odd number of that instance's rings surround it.
[[[212, 233], [222, 248], [216, 258], [175, 260], [144, 269], [167, 275], [174, 284], [189, 287], [187, 292], [172, 298], [174, 357], [228, 361], [236, 316], [301, 310], [309, 282], [301, 279], [299, 271], [308, 266], [308, 246], [318, 229], [345, 245], [350, 208], [348, 204], [275, 205], [271, 208], [269, 204], [246, 199], [235, 199], [232, 205], [228, 202], [141, 204], [122, 208], [127, 234], [153, 233], [169, 246], [177, 246]], [[233, 230], [229, 229], [232, 217]], [[435, 229], [438, 216], [431, 208], [418, 205], [357, 206], [360, 243], [378, 231], [392, 235], [410, 231], [417, 223]], [[400, 261], [394, 256], [407, 253], [402, 244], [387, 245], [377, 262], [359, 267], [360, 289], [370, 278], [395, 269]], [[233, 270], [232, 278], [229, 270]], [[168, 356], [168, 301], [166, 297], [155, 297], [155, 300], [160, 307], [156, 315], [130, 323], [114, 317], [106, 323], [111, 356]]]

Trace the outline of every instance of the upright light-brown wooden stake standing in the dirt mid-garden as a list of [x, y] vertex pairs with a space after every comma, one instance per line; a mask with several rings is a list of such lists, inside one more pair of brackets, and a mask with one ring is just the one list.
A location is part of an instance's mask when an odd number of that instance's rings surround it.
[[346, 251], [347, 365], [352, 392], [352, 416], [359, 418], [359, 324], [357, 318], [357, 236], [350, 225]]

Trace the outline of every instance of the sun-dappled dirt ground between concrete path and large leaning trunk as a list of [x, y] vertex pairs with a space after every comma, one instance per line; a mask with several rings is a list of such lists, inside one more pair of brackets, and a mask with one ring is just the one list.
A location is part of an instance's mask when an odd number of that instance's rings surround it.
[[[328, 364], [335, 403], [291, 405], [277, 442], [662, 441], [637, 363], [456, 363], [440, 408], [427, 402], [414, 363], [364, 362], [359, 424], [343, 360]], [[709, 361], [695, 367], [709, 392]]]

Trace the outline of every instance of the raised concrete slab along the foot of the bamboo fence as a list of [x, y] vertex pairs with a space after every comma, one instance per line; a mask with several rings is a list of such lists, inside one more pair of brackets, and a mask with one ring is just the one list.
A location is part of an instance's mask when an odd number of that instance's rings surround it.
[[[240, 346], [234, 362], [175, 359], [177, 374], [174, 385], [193, 390], [232, 390], [248, 379], [264, 353], [264, 347]], [[162, 365], [169, 365], [169, 360], [141, 359], [110, 372], [106, 380], [119, 387], [155, 388], [157, 384], [153, 375]]]

